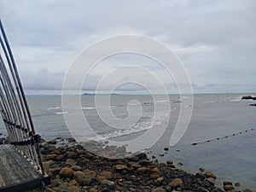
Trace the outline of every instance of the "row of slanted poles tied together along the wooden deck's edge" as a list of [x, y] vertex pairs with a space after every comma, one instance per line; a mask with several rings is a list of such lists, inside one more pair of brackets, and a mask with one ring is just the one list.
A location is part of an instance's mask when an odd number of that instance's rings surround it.
[[15, 58], [0, 19], [0, 111], [10, 143], [45, 175], [32, 116], [20, 82]]

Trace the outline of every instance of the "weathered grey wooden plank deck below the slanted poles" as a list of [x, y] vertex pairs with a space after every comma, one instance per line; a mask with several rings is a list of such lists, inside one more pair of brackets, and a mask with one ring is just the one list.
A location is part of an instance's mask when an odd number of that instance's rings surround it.
[[24, 191], [49, 183], [14, 146], [0, 145], [0, 192]]

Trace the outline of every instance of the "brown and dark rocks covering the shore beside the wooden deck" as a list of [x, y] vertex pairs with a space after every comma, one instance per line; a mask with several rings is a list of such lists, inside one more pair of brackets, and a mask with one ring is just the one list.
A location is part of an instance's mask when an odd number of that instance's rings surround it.
[[[61, 141], [60, 138], [58, 140]], [[96, 142], [90, 145], [99, 146]], [[40, 148], [45, 171], [51, 178], [51, 184], [47, 186], [49, 191], [224, 191], [215, 186], [216, 176], [212, 172], [201, 169], [195, 175], [190, 174], [177, 169], [172, 160], [159, 163], [158, 160], [148, 160], [144, 153], [131, 155], [124, 147], [112, 146], [108, 150], [108, 153], [115, 156], [127, 156], [122, 159], [108, 159], [92, 154], [78, 143], [60, 146], [56, 140], [42, 143]], [[224, 189], [238, 191], [229, 186], [230, 183], [226, 183]]]

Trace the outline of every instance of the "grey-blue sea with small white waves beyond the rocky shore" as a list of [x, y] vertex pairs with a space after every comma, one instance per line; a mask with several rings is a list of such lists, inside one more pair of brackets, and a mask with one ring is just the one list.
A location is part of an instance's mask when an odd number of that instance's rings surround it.
[[[167, 99], [161, 95], [99, 95], [97, 100], [95, 95], [66, 96], [70, 102], [65, 107], [61, 96], [26, 97], [36, 131], [47, 141], [75, 137], [129, 143], [151, 131], [149, 148], [143, 146], [145, 139], [136, 143], [150, 158], [174, 160], [191, 173], [204, 167], [217, 175], [220, 187], [223, 181], [232, 181], [241, 183], [241, 189], [256, 191], [256, 107], [249, 106], [256, 101], [241, 100], [247, 95], [253, 94], [195, 94], [187, 106], [182, 103], [189, 96], [175, 94]], [[78, 99], [79, 105], [74, 104]], [[170, 146], [178, 120], [188, 118], [183, 108], [191, 109], [191, 119], [183, 137]], [[80, 114], [84, 119], [76, 118]], [[3, 121], [0, 133], [7, 136]]]

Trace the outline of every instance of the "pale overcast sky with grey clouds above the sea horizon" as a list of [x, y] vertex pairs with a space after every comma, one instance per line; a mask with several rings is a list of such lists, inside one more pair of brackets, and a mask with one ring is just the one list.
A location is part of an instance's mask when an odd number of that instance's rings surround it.
[[[102, 38], [135, 34], [172, 49], [195, 93], [255, 93], [255, 10], [254, 0], [0, 1], [1, 20], [28, 92], [61, 90], [68, 68], [84, 49]], [[146, 67], [170, 93], [177, 91], [175, 79], [163, 67], [132, 54], [100, 62], [84, 91], [96, 90], [104, 74], [130, 65]], [[150, 84], [153, 79], [147, 78], [142, 76], [142, 82]], [[131, 79], [129, 73], [105, 80], [103, 90], [124, 79]], [[128, 83], [118, 90], [132, 93], [145, 88]]]

